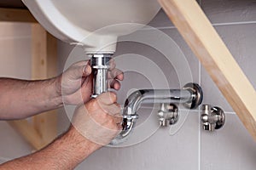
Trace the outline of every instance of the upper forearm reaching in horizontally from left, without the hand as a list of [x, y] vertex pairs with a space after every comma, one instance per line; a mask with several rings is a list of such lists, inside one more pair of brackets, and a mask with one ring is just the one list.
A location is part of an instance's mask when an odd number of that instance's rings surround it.
[[60, 107], [55, 81], [0, 78], [0, 120], [25, 118]]

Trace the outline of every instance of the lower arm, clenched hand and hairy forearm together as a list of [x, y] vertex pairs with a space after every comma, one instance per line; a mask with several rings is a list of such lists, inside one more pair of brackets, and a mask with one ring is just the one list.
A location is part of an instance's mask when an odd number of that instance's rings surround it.
[[67, 133], [43, 150], [3, 163], [0, 169], [73, 169], [119, 133], [119, 112], [116, 95], [101, 94], [77, 108]]

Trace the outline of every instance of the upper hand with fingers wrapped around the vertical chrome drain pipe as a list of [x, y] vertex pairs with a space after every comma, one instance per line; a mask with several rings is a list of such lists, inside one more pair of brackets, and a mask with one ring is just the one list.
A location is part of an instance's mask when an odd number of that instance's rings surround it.
[[[119, 90], [124, 75], [115, 68], [113, 59], [110, 60], [108, 70], [108, 88]], [[92, 93], [92, 74], [90, 61], [80, 61], [71, 65], [60, 77], [57, 77], [58, 94], [67, 105], [86, 103]]]

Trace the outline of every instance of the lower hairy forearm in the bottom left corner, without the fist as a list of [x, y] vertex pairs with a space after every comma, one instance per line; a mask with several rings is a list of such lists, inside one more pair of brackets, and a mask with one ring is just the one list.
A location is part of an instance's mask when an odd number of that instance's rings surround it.
[[72, 127], [44, 150], [8, 161], [0, 169], [73, 169], [98, 148]]

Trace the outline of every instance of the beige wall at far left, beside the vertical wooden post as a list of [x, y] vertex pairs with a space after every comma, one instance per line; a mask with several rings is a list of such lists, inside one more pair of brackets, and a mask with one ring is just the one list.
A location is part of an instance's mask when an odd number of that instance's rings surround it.
[[[31, 26], [0, 23], [0, 77], [30, 79]], [[7, 122], [0, 122], [0, 163], [27, 155], [32, 147]]]

